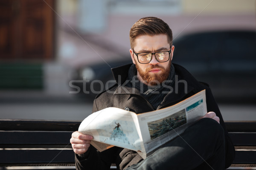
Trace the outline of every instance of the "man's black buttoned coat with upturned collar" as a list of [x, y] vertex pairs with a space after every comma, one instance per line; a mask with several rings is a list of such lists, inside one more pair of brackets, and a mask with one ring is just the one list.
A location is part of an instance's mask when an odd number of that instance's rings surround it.
[[[215, 102], [214, 97], [209, 86], [206, 83], [198, 82], [185, 68], [180, 65], [175, 66], [175, 83], [172, 85], [173, 91], [165, 96], [163, 102], [157, 109], [165, 108], [188, 98], [201, 90], [206, 89], [207, 112], [213, 111], [220, 118], [220, 124], [225, 132], [226, 142], [226, 165], [229, 167], [232, 163], [235, 150], [228, 136], [226, 127], [224, 125], [221, 112]], [[124, 87], [128, 77], [128, 70], [131, 64], [121, 67], [113, 68], [113, 76], [116, 79], [116, 85], [113, 85], [108, 91], [104, 91], [93, 102], [93, 112], [102, 110], [108, 107], [116, 107], [122, 109], [129, 109], [134, 113], [144, 113], [153, 111], [154, 108], [145, 99], [140, 91], [134, 88]], [[184, 81], [185, 80], [185, 81]], [[107, 116], [107, 115], [106, 115]], [[142, 158], [134, 151], [123, 149], [120, 147], [112, 147], [103, 152], [98, 152], [94, 147], [90, 146], [87, 153], [83, 156], [76, 155], [77, 169], [109, 169], [111, 163], [116, 163], [120, 169], [125, 169], [131, 164], [136, 164]]]

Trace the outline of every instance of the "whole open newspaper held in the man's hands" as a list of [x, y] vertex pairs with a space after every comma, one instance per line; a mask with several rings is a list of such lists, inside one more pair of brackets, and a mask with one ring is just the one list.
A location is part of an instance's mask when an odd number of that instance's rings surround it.
[[205, 90], [167, 108], [136, 114], [105, 108], [81, 122], [79, 132], [93, 136], [100, 152], [113, 146], [135, 150], [145, 159], [207, 113]]

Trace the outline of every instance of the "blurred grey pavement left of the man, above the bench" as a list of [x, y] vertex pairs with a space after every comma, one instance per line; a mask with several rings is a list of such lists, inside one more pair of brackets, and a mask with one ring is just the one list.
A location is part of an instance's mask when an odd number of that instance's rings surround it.
[[53, 96], [42, 91], [0, 91], [0, 119], [83, 120], [92, 112], [93, 99]]

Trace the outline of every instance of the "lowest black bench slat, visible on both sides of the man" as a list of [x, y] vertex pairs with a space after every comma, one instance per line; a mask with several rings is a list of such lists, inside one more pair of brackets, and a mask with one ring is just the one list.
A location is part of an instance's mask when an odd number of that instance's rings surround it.
[[[74, 164], [73, 150], [0, 150], [0, 157], [0, 166]], [[233, 164], [256, 164], [256, 152], [236, 151]]]

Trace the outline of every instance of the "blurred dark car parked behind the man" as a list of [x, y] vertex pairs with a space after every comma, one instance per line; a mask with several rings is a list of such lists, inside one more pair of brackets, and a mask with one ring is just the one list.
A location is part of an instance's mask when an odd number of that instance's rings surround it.
[[[217, 101], [256, 102], [255, 31], [190, 33], [174, 39], [173, 45], [172, 62], [185, 67], [198, 81], [207, 82]], [[109, 65], [113, 68], [132, 62], [130, 56], [125, 58], [108, 62], [108, 65], [99, 63], [79, 68], [77, 79], [84, 77], [90, 82], [76, 85], [86, 88], [84, 90], [90, 92], [87, 96], [95, 97], [106, 88], [108, 80], [113, 80]], [[104, 85], [100, 85], [98, 80]], [[112, 84], [108, 83], [107, 88]], [[83, 90], [81, 93], [84, 93]]]

